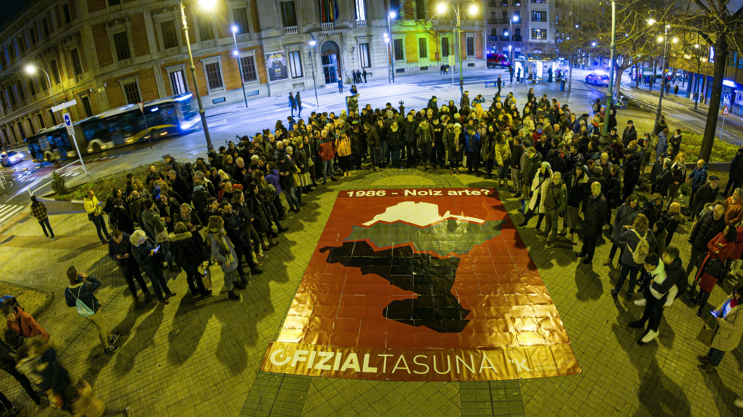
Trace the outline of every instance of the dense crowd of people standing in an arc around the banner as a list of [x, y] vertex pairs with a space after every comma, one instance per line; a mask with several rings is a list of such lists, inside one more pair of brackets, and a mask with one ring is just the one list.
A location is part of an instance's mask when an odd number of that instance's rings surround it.
[[[299, 93], [291, 97], [290, 107], [301, 109], [301, 104], [297, 106], [300, 100]], [[566, 229], [568, 247], [583, 237], [576, 256], [588, 264], [593, 261], [597, 239], [609, 228], [611, 251], [603, 265], [614, 269], [618, 249], [620, 274], [611, 295], [617, 299], [629, 277], [625, 297], [636, 298], [635, 303], [644, 309], [640, 319], [629, 323], [645, 327], [639, 344], [658, 336], [663, 309], [685, 293], [700, 306], [697, 314], [704, 315], [718, 280], [733, 277], [740, 266], [743, 149], [731, 166], [723, 193], [732, 194], [718, 200], [718, 178], [708, 177], [704, 160], [687, 172], [681, 131], [669, 133], [663, 121], [658, 131], [639, 135], [628, 120], [618, 134], [614, 111], [606, 114], [600, 102], [591, 116], [571, 111], [547, 94], [536, 96], [533, 88], [523, 105], [517, 105], [513, 93], [498, 93], [489, 105], [487, 101], [481, 95], [470, 99], [465, 91], [458, 103], [449, 100], [439, 106], [438, 98], [432, 96], [420, 110], [406, 111], [402, 102], [398, 108], [388, 102], [385, 108], [366, 105], [360, 113], [312, 112], [306, 122], [289, 116], [288, 127], [279, 120], [273, 130], [241, 137], [194, 161], [181, 163], [166, 155], [162, 168], [152, 165], [142, 177], [129, 174], [126, 183], [104, 197], [88, 190], [85, 211], [101, 243], [108, 244], [108, 255], [119, 266], [137, 303], [151, 301], [154, 293], [159, 303], [168, 304], [176, 295], [168, 280], [181, 271], [186, 272], [192, 297], [209, 297], [214, 266], [223, 272], [227, 298], [239, 301], [248, 277], [262, 273], [270, 249], [288, 231], [282, 224], [288, 211], [299, 213], [307, 204], [302, 196], [326, 185], [328, 177], [337, 181], [357, 171], [403, 167], [444, 168], [457, 175], [460, 168], [466, 168], [467, 174], [493, 179], [502, 196], [510, 190], [522, 201], [518, 227], [528, 227], [536, 217], [537, 236], [545, 239], [546, 249], [554, 247], [559, 230]], [[607, 136], [602, 135], [605, 125]], [[647, 183], [642, 174], [649, 165]], [[737, 177], [733, 171], [739, 173]], [[687, 182], [690, 200], [682, 213], [679, 200], [683, 199], [678, 197]], [[635, 188], [648, 185], [651, 195], [641, 200]], [[32, 200], [33, 215], [53, 239], [45, 206], [35, 197]], [[688, 239], [691, 255], [684, 268], [672, 238], [687, 217], [695, 223]], [[107, 330], [94, 296], [100, 281], [78, 273], [74, 266], [68, 270], [68, 279], [67, 305], [96, 326], [103, 352], [116, 352], [118, 335]], [[641, 296], [635, 297], [638, 285]], [[720, 330], [707, 355], [699, 356], [701, 370], [713, 370], [724, 352], [738, 346], [743, 326], [736, 326], [735, 321], [742, 295], [743, 286], [736, 285], [713, 311]], [[55, 361], [53, 347], [47, 344], [48, 333], [33, 318], [25, 320], [25, 327], [10, 326], [10, 316], [23, 323], [24, 314], [14, 310], [6, 316], [11, 329], [35, 341], [24, 348], [25, 354], [46, 363]], [[23, 360], [15, 358], [13, 363]], [[16, 367], [7, 368], [13, 375]], [[48, 382], [43, 372], [19, 365], [18, 370], [24, 369], [32, 381]], [[22, 380], [24, 375], [16, 374], [27, 392], [33, 390]], [[71, 407], [71, 398], [91, 398], [85, 381], [62, 385], [43, 393], [58, 397], [53, 401], [68, 404], [65, 407]], [[38, 395], [31, 398], [36, 401]]]

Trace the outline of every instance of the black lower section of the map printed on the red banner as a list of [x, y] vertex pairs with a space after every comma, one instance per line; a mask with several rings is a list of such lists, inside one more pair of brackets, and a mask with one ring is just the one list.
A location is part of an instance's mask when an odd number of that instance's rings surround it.
[[363, 275], [379, 275], [400, 289], [418, 294], [418, 298], [389, 303], [383, 315], [390, 320], [442, 333], [461, 332], [469, 322], [465, 317], [470, 310], [452, 295], [458, 257], [438, 259], [413, 253], [409, 246], [374, 252], [366, 240], [326, 246], [320, 252], [329, 252], [328, 263], [360, 268]]

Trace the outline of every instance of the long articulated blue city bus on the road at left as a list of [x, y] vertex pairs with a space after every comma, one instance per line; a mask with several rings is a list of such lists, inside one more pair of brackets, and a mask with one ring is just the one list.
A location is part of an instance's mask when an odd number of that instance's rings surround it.
[[[192, 93], [178, 94], [146, 102], [147, 128], [137, 105], [123, 105], [96, 116], [74, 122], [75, 139], [82, 154], [130, 145], [147, 139], [160, 139], [198, 130], [198, 111], [192, 108]], [[65, 125], [45, 128], [24, 139], [36, 162], [76, 157], [75, 146]]]

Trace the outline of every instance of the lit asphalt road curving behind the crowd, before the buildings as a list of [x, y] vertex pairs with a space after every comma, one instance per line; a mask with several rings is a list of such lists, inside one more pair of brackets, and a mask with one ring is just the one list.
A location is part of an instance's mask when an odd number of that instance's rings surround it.
[[[558, 99], [567, 102], [574, 111], [590, 108], [590, 102], [596, 97], [606, 94], [606, 88], [598, 88], [593, 85], [585, 84], [585, 75], [588, 70], [573, 70], [573, 82], [570, 96], [566, 92], [559, 91], [559, 83], [544, 83], [538, 85], [509, 85], [504, 84], [502, 95], [508, 91], [513, 91], [517, 102], [522, 103], [529, 87], [533, 87], [536, 94], [547, 93], [548, 96], [557, 96]], [[465, 71], [464, 88], [470, 91], [470, 98], [475, 97], [478, 93], [483, 94], [486, 99], [492, 99], [496, 93], [493, 85], [484, 87], [484, 81], [495, 80], [498, 75], [502, 76], [504, 82], [508, 79], [507, 70], [502, 68], [490, 68], [488, 70]], [[371, 81], [369, 84], [358, 85], [360, 93], [360, 105], [369, 103], [372, 108], [383, 108], [386, 102], [392, 102], [392, 105], [398, 107], [398, 102], [403, 100], [406, 109], [423, 108], [431, 96], [438, 97], [438, 104], [442, 105], [449, 99], [459, 102], [458, 73], [454, 73], [454, 84], [452, 85], [452, 73], [449, 74], [427, 74], [425, 76], [405, 76], [398, 77], [394, 84], [387, 82], [386, 79]], [[629, 85], [629, 76], [625, 76]], [[349, 87], [349, 86], [347, 86]], [[302, 116], [309, 116], [311, 111], [340, 111], [345, 109], [345, 96], [348, 94], [348, 88], [343, 94], [339, 93], [337, 88], [319, 88], [317, 89], [317, 101], [314, 91], [308, 90], [302, 92]], [[657, 96], [637, 91], [628, 86], [623, 87], [623, 94], [642, 99], [645, 102], [657, 102]], [[666, 99], [664, 114], [669, 120], [681, 122], [690, 125], [697, 131], [704, 129], [704, 119], [706, 111], [695, 111], [688, 105], [684, 105], [683, 100]], [[271, 128], [276, 124], [276, 120], [286, 120], [289, 116], [289, 108], [286, 104], [285, 96], [268, 97], [265, 99], [253, 100], [248, 102], [248, 108], [244, 104], [227, 105], [221, 108], [212, 108], [207, 110], [207, 123], [209, 125], [210, 137], [215, 148], [227, 145], [230, 140], [236, 139], [236, 134], [252, 136], [264, 128]], [[295, 113], [296, 116], [296, 113]], [[654, 117], [648, 114], [649, 118]], [[743, 132], [730, 129], [724, 134], [724, 139], [729, 142], [740, 142]], [[76, 183], [91, 180], [97, 175], [105, 175], [109, 172], [120, 171], [130, 166], [136, 166], [140, 163], [157, 160], [164, 154], [178, 154], [181, 159], [187, 158], [194, 160], [195, 157], [206, 152], [206, 142], [204, 132], [199, 130], [191, 134], [179, 137], [168, 137], [153, 142], [153, 150], [149, 148], [147, 142], [138, 142], [122, 148], [114, 148], [104, 151], [100, 154], [89, 154], [83, 157], [89, 175], [82, 173], [79, 168], [80, 162], [73, 162], [61, 171], [68, 175], [68, 180], [74, 185]], [[25, 151], [25, 150], [21, 150]], [[27, 152], [26, 152], [27, 153]], [[70, 164], [72, 161], [66, 161]], [[2, 171], [6, 178], [12, 180], [13, 185], [10, 190], [6, 191], [0, 197], [0, 224], [2, 223], [1, 211], [7, 205], [25, 205], [28, 203], [28, 189], [37, 195], [48, 194], [51, 190], [48, 185], [49, 176], [53, 168], [45, 164], [44, 168], [39, 168], [39, 164], [30, 160], [24, 160], [12, 169], [20, 170], [29, 168], [26, 171]], [[126, 166], [124, 166], [126, 165]], [[78, 168], [76, 168], [78, 167]], [[8, 169], [8, 168], [4, 168]], [[79, 178], [75, 178], [79, 177]]]

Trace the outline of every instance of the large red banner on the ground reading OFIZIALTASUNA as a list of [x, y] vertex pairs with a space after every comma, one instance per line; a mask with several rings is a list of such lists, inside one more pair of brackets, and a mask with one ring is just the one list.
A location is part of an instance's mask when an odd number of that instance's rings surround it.
[[580, 373], [487, 188], [341, 191], [262, 370], [396, 381]]

